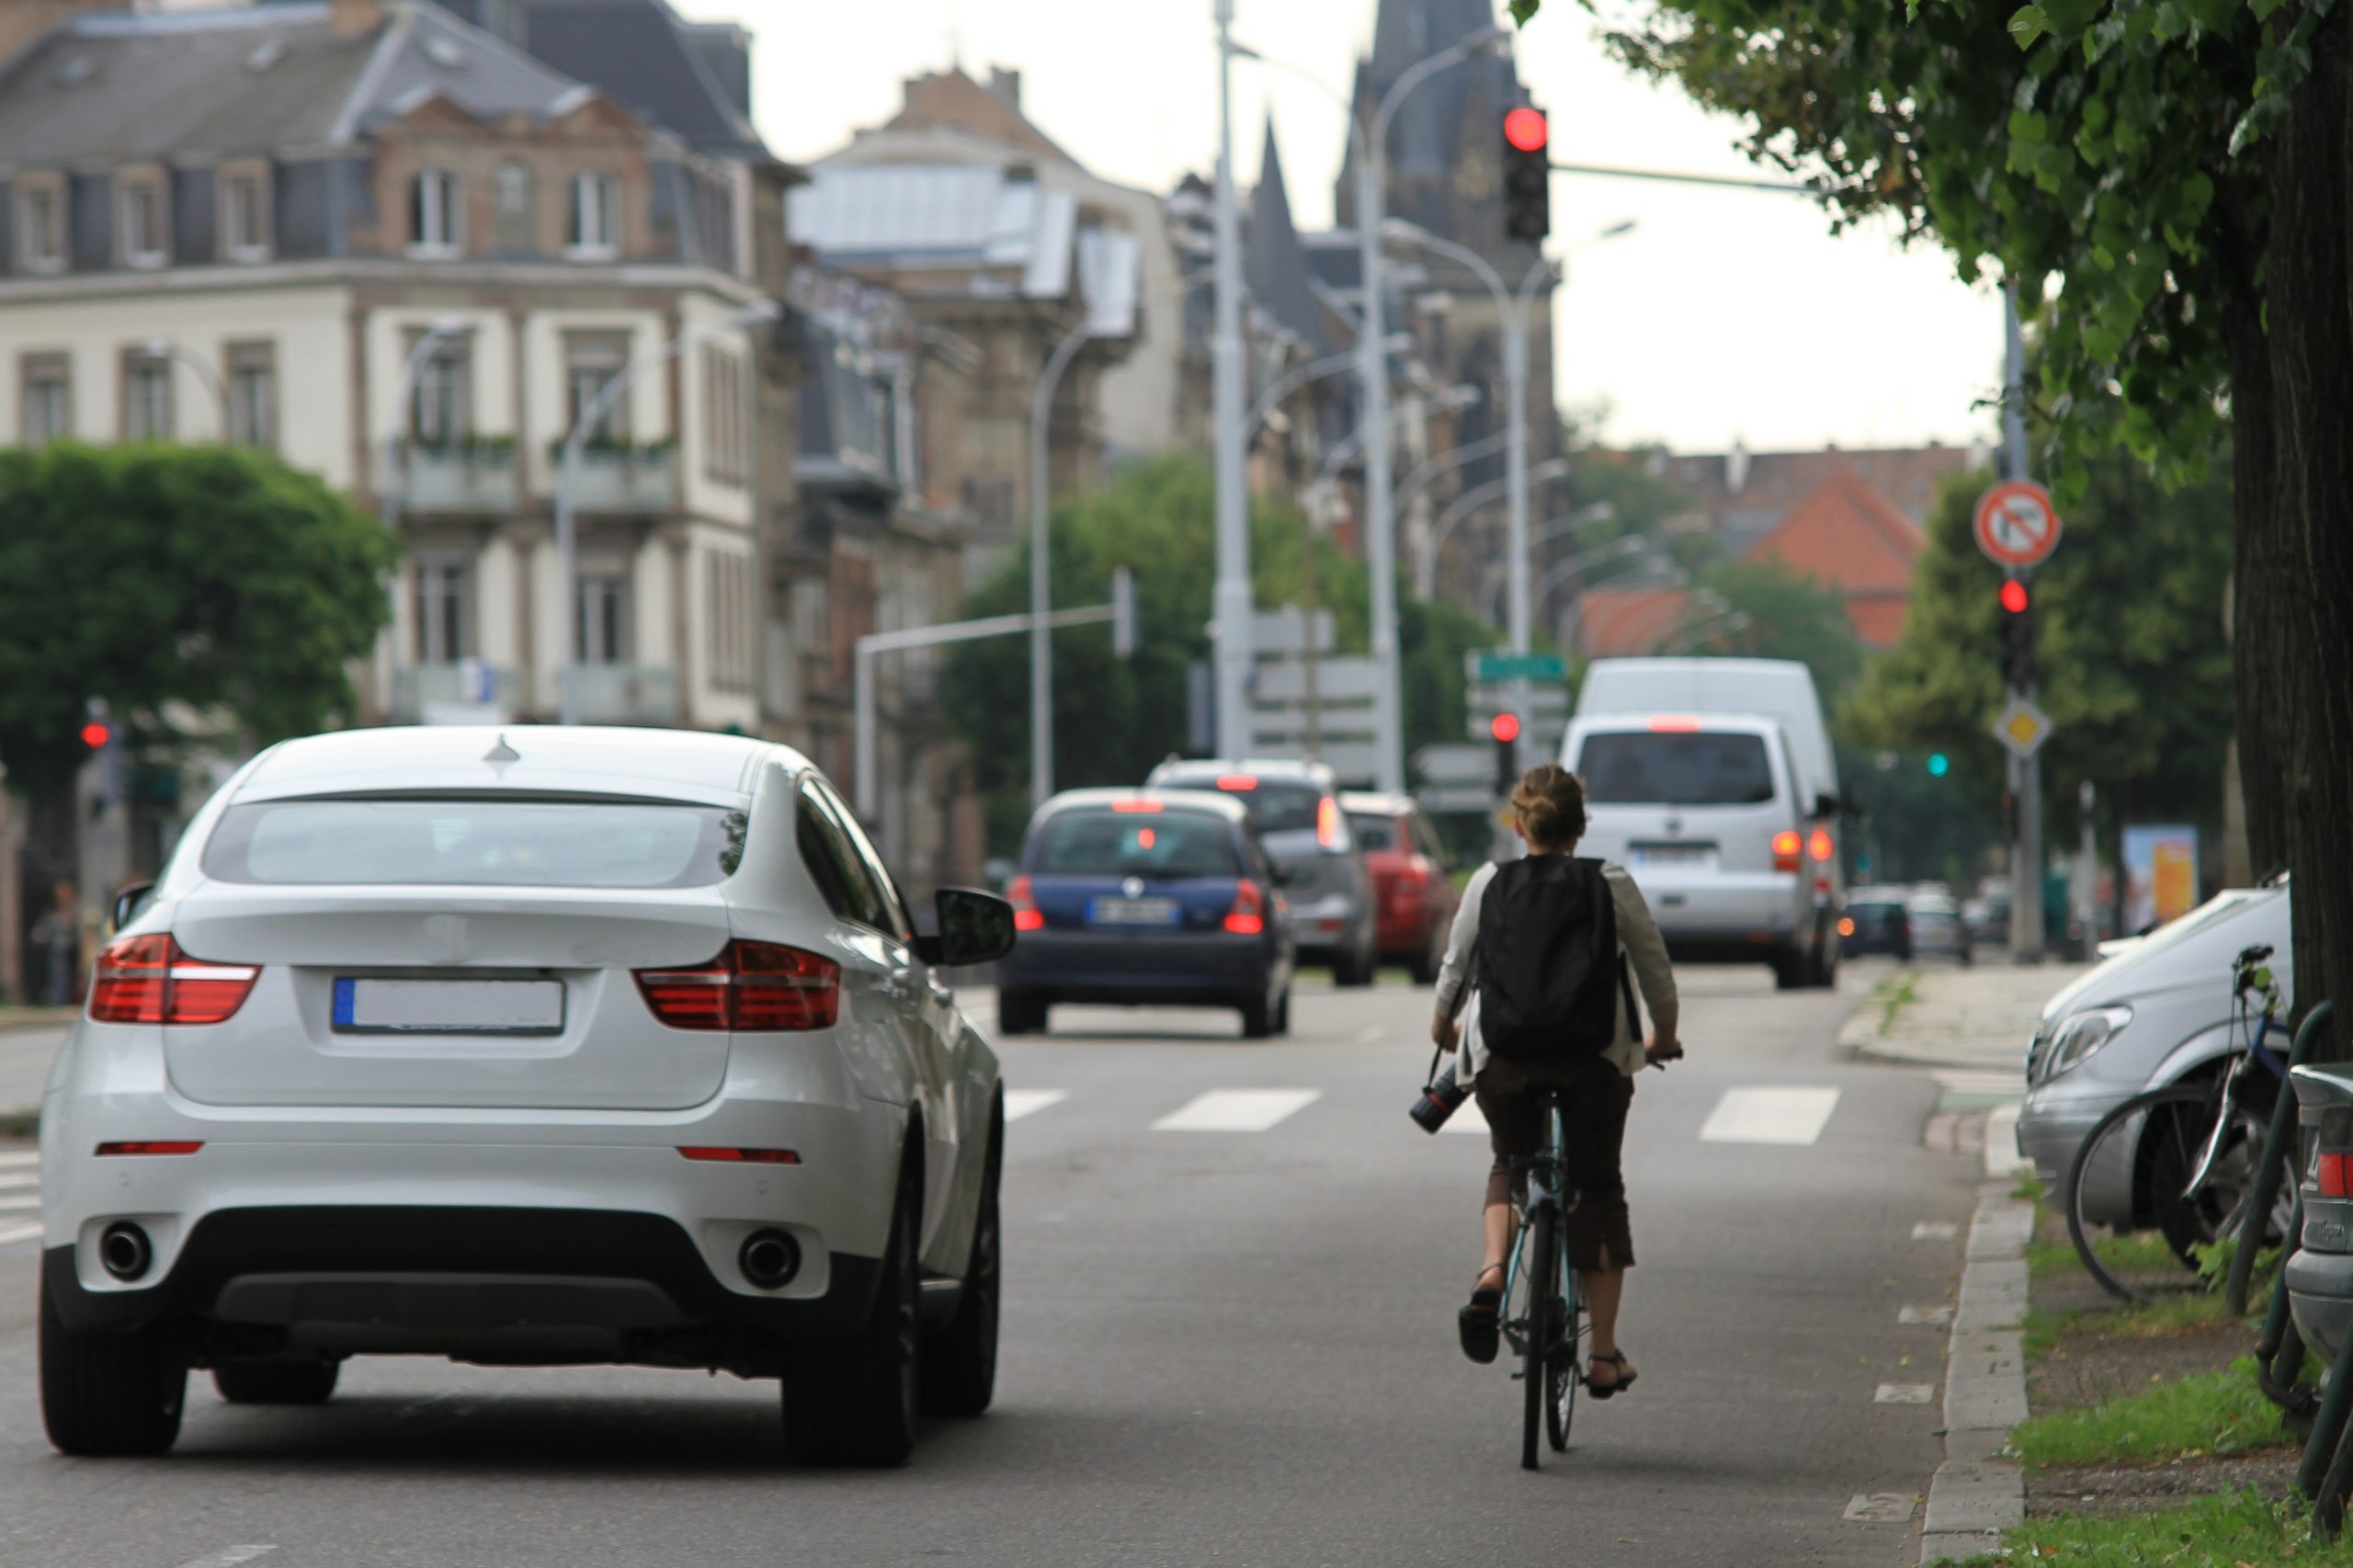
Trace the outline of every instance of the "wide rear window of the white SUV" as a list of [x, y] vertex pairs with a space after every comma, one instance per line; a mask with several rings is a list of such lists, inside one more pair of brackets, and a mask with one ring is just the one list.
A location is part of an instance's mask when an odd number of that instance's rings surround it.
[[221, 812], [205, 876], [289, 888], [706, 888], [744, 812], [668, 800], [252, 800]]

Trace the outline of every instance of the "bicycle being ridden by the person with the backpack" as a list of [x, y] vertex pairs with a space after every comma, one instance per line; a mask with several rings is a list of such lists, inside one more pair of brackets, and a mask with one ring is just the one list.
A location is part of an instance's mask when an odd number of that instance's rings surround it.
[[1527, 1172], [1527, 1196], [1520, 1201], [1520, 1227], [1504, 1271], [1504, 1342], [1520, 1356], [1513, 1377], [1522, 1382], [1520, 1469], [1539, 1469], [1539, 1427], [1553, 1453], [1567, 1453], [1577, 1384], [1586, 1373], [1586, 1302], [1560, 1236], [1565, 1215], [1577, 1208], [1577, 1194], [1562, 1203], [1567, 1140], [1560, 1090], [1541, 1090], [1539, 1104], [1544, 1147], [1511, 1161], [1513, 1172]]

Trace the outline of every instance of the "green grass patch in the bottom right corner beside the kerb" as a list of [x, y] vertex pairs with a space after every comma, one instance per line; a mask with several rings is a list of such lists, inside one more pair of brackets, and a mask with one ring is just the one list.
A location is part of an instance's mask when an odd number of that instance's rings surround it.
[[[2306, 1563], [2348, 1563], [2353, 1547], [2327, 1544], [2313, 1530], [2308, 1514], [2287, 1502], [2271, 1502], [2245, 1490], [2228, 1497], [2198, 1497], [2158, 1514], [2120, 1519], [2059, 1516], [2028, 1519], [2002, 1533], [2002, 1552], [1967, 1559], [1995, 1568], [2057, 1559], [2075, 1568], [2294, 1568]], [[1951, 1559], [1946, 1559], [1951, 1561]]]

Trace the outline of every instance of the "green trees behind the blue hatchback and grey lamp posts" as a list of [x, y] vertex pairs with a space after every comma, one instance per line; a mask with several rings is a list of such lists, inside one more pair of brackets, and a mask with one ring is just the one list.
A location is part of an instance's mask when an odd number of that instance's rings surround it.
[[[1089, 605], [1111, 593], [1111, 570], [1136, 572], [1136, 655], [1115, 659], [1101, 626], [1054, 633], [1054, 784], [1136, 784], [1153, 763], [1186, 751], [1186, 671], [1209, 657], [1209, 530], [1214, 478], [1195, 457], [1125, 469], [1111, 487], [1054, 509], [1054, 603]], [[1261, 607], [1301, 603], [1308, 527], [1289, 506], [1252, 506], [1252, 574]], [[1372, 589], [1365, 565], [1315, 537], [1315, 603], [1332, 612], [1341, 652], [1365, 652]], [[1028, 607], [1028, 551], [981, 584], [965, 612]], [[1497, 643], [1492, 626], [1452, 605], [1407, 598], [1398, 607], [1407, 751], [1461, 739], [1461, 659]], [[988, 836], [1000, 850], [1028, 819], [1028, 640], [962, 643], [946, 657], [941, 702], [965, 739], [988, 796]]]

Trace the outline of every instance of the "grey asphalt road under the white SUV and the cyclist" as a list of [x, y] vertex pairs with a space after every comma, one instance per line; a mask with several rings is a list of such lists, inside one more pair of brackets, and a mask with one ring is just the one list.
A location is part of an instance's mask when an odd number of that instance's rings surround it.
[[[5, 1243], [0, 1563], [1908, 1563], [1913, 1521], [1842, 1514], [1925, 1493], [1941, 1457], [1937, 1406], [1880, 1387], [1941, 1382], [1941, 1333], [1897, 1314], [1951, 1300], [1958, 1243], [1913, 1227], [1965, 1222], [1974, 1170], [1922, 1151], [1925, 1074], [1838, 1057], [1854, 989], [1687, 975], [1692, 1055], [1645, 1074], [1628, 1132], [1642, 1382], [1579, 1401], [1534, 1476], [1518, 1384], [1454, 1349], [1487, 1154], [1405, 1118], [1428, 998], [1315, 984], [1278, 1043], [1231, 1015], [1064, 1010], [1005, 1045], [1028, 1095], [998, 1406], [904, 1471], [791, 1469], [772, 1384], [388, 1358], [315, 1410], [198, 1377], [172, 1457], [64, 1460], [35, 1406], [35, 1243]], [[1704, 1140], [1753, 1088], [1835, 1104], [1814, 1142]], [[1195, 1116], [1297, 1109], [1153, 1130], [1214, 1090], [1297, 1092]], [[1821, 1104], [1734, 1109], [1800, 1137]]]

